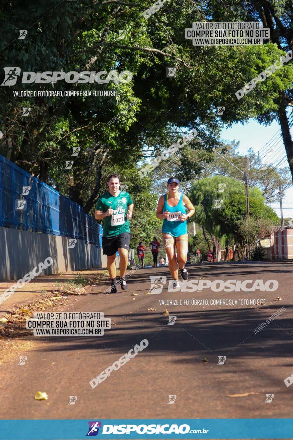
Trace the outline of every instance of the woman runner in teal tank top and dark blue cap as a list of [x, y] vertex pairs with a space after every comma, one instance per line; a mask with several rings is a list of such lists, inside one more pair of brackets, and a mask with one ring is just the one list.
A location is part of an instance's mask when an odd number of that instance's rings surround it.
[[[190, 218], [195, 209], [189, 198], [178, 192], [179, 180], [170, 177], [167, 181], [168, 193], [159, 198], [156, 217], [164, 220], [162, 236], [164, 248], [169, 261], [169, 270], [174, 279], [173, 288], [179, 286], [178, 265], [183, 280], [188, 279], [185, 268], [188, 251], [187, 218]], [[188, 212], [186, 213], [186, 209]], [[177, 260], [175, 254], [177, 250]]]

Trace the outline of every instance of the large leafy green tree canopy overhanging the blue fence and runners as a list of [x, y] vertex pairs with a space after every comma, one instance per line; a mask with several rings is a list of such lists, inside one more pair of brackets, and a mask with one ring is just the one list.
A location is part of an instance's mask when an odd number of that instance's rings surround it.
[[[185, 28], [203, 19], [190, 0], [166, 2], [148, 20], [142, 12], [149, 1], [89, 0], [24, 3], [1, 1], [1, 64], [22, 71], [128, 70], [130, 83], [21, 84], [1, 87], [0, 152], [43, 181], [64, 189], [89, 212], [100, 191], [104, 166], [123, 161], [129, 167], [157, 155], [178, 138], [182, 127], [197, 128], [207, 151], [217, 144], [224, 123], [276, 110], [274, 99], [288, 90], [292, 68], [287, 65], [262, 83], [255, 99], [236, 101], [234, 89], [264, 70], [284, 51], [264, 47], [193, 47]], [[19, 28], [31, 26], [21, 44]], [[121, 39], [119, 30], [126, 31]], [[70, 35], [70, 37], [68, 37]], [[8, 44], [9, 43], [9, 44]], [[167, 66], [177, 68], [166, 78]], [[3, 78], [4, 79], [4, 78]], [[19, 98], [13, 91], [117, 91], [113, 97]], [[250, 96], [250, 95], [248, 95]], [[247, 104], [248, 102], [248, 104]], [[214, 117], [218, 105], [227, 111]], [[32, 108], [22, 117], [22, 107]], [[114, 116], [117, 120], [109, 123]], [[81, 148], [71, 171], [65, 172], [72, 147]], [[89, 149], [93, 149], [89, 152]], [[68, 157], [69, 155], [69, 157]], [[94, 175], [94, 185], [88, 179]], [[88, 188], [91, 188], [91, 193]]]

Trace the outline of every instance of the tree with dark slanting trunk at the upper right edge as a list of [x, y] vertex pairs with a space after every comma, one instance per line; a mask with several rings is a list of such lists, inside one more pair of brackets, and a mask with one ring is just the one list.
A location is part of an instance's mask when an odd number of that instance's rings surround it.
[[[229, 7], [226, 7], [225, 2], [219, 2], [217, 0], [208, 0], [200, 2], [200, 4], [205, 10], [207, 20], [260, 21], [263, 27], [270, 29], [270, 39], [265, 41], [266, 44], [263, 46], [264, 50], [266, 50], [266, 46], [270, 46], [272, 43], [279, 49], [286, 51], [293, 50], [292, 0], [234, 0], [229, 4]], [[255, 64], [255, 66], [257, 67], [257, 64]], [[292, 60], [285, 68], [287, 70], [292, 69]], [[246, 65], [244, 69], [247, 70]], [[253, 68], [251, 70], [252, 75], [248, 81], [256, 77], [261, 71], [261, 68]], [[274, 80], [278, 81], [278, 77], [275, 73], [272, 76], [274, 76]], [[268, 96], [270, 95], [272, 99], [271, 104], [268, 105], [266, 102], [263, 105], [261, 103], [264, 93]], [[257, 106], [255, 106], [256, 101], [258, 101]], [[259, 105], [260, 111], [255, 113], [255, 109]], [[283, 92], [280, 91], [277, 94], [271, 94], [271, 83], [266, 79], [264, 86], [258, 85], [252, 92], [239, 101], [239, 111], [243, 112], [243, 116], [239, 120], [244, 121], [247, 120], [248, 117], [255, 117], [260, 123], [264, 123], [265, 125], [270, 125], [274, 119], [278, 120], [293, 182], [293, 139], [290, 132], [292, 124], [289, 123], [288, 114], [286, 112], [288, 106], [292, 105], [292, 81], [291, 83], [289, 82], [288, 87]]]

